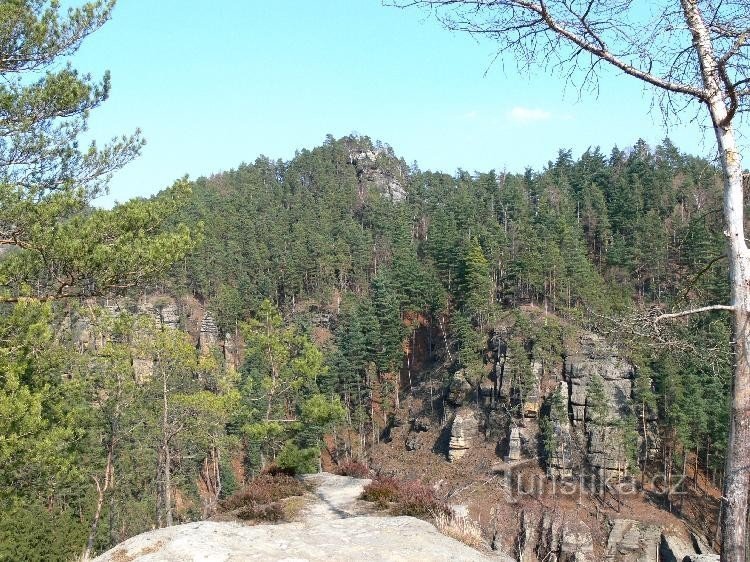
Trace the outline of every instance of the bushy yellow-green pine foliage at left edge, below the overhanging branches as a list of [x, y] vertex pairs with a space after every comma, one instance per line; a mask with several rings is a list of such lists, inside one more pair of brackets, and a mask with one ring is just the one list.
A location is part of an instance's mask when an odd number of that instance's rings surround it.
[[[0, 316], [0, 502], [46, 497], [50, 482], [80, 478], [72, 443], [78, 426], [79, 388], [61, 373], [72, 350], [54, 340], [51, 307], [24, 301]], [[7, 503], [6, 503], [7, 505]]]

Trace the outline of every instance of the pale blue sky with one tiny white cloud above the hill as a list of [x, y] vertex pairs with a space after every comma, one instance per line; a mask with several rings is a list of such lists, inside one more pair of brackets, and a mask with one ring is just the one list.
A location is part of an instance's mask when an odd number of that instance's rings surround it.
[[632, 79], [612, 72], [598, 96], [579, 96], [543, 70], [491, 64], [494, 54], [490, 42], [380, 0], [120, 0], [73, 62], [112, 72], [92, 137], [140, 127], [148, 144], [99, 204], [260, 154], [288, 160], [328, 133], [365, 134], [449, 173], [538, 169], [560, 148], [608, 152], [667, 134], [684, 151], [712, 153], [698, 124], [664, 129]]

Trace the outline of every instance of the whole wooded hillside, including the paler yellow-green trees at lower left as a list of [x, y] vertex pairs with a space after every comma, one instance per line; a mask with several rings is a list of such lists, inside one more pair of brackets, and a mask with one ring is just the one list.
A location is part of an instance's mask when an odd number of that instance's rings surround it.
[[[271, 464], [368, 463], [414, 413], [403, 403], [418, 388], [429, 387], [424, 412], [436, 421], [475, 402], [487, 438], [533, 410], [538, 462], [569, 470], [553, 427], [567, 414], [543, 381], [559, 378], [582, 334], [632, 365], [613, 426], [625, 447], [618, 478], [684, 472], [690, 458], [696, 481], [698, 471], [720, 481], [727, 319], [650, 320], [726, 298], [710, 162], [665, 139], [577, 159], [561, 150], [524, 174], [447, 175], [366, 137], [329, 137], [189, 187], [154, 231], [200, 235], [161, 281], [3, 317], [18, 338], [4, 360], [33, 375], [5, 388], [8, 407], [22, 397], [29, 414], [0, 442], [12, 468], [0, 558], [68, 560], [87, 543], [100, 551], [209, 517]], [[169, 201], [174, 190], [150, 204]], [[500, 385], [498, 340], [507, 388], [485, 403], [487, 377]], [[597, 381], [587, 428], [608, 415]], [[510, 418], [497, 421], [497, 404]]]

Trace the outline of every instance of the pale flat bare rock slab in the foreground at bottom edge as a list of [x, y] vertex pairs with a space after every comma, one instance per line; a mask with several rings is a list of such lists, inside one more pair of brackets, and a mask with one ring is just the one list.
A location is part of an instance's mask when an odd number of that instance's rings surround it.
[[98, 562], [469, 562], [489, 558], [413, 517], [347, 517], [282, 525], [201, 521], [132, 537]]

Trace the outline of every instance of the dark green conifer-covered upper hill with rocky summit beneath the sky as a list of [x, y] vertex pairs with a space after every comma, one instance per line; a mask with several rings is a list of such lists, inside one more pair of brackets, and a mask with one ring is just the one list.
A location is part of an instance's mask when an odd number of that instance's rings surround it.
[[[696, 451], [715, 472], [726, 318], [649, 318], [726, 300], [720, 208], [715, 167], [668, 139], [577, 160], [561, 150], [522, 175], [450, 176], [367, 138], [329, 138], [287, 163], [259, 158], [195, 182], [179, 220], [203, 220], [205, 241], [172, 287], [205, 300], [223, 333], [264, 299], [311, 335], [332, 331], [318, 388], [377, 430], [375, 412], [398, 404], [415, 359], [480, 378], [488, 338], [513, 317], [506, 339], [528, 356], [523, 376], [536, 355], [562, 360], [566, 330], [598, 332], [635, 365], [633, 399], [659, 413], [669, 450]], [[529, 306], [549, 322], [535, 328]]]

